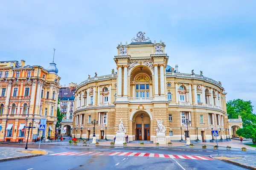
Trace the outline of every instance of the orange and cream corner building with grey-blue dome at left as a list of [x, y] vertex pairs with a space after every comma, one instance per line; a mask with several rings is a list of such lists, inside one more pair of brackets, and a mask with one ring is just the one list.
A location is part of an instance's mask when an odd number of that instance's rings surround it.
[[24, 142], [28, 130], [29, 141], [37, 139], [38, 124], [47, 119], [44, 137], [55, 136], [60, 77], [55, 63], [47, 69], [39, 65], [25, 65], [25, 61], [0, 62], [0, 141]]

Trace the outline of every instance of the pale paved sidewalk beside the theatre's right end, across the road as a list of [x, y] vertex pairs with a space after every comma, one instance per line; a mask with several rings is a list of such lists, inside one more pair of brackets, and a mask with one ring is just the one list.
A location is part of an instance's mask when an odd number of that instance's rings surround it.
[[[216, 142], [201, 142], [198, 144], [205, 144], [205, 145], [216, 145]], [[241, 149], [241, 147], [246, 147], [247, 150], [255, 150], [256, 147], [251, 147], [251, 146], [247, 146], [246, 144], [241, 143], [238, 140], [233, 140], [231, 139], [230, 142], [218, 142], [218, 146], [222, 146], [222, 147], [227, 147], [227, 146], [231, 146], [231, 148], [237, 148], [237, 149]]]

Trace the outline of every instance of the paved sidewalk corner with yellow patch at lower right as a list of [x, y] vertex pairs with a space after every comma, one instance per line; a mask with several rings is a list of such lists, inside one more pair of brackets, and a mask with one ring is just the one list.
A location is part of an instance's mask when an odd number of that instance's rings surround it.
[[256, 170], [256, 156], [244, 156], [244, 155], [211, 155], [213, 159], [219, 159], [231, 164], [238, 165], [240, 167]]

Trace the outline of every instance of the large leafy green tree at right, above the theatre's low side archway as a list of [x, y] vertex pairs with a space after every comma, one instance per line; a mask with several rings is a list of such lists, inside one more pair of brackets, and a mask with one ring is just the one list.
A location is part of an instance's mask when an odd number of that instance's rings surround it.
[[243, 120], [243, 127], [256, 125], [256, 115], [253, 114], [251, 101], [242, 99], [230, 100], [227, 102], [228, 119], [237, 119], [240, 115]]

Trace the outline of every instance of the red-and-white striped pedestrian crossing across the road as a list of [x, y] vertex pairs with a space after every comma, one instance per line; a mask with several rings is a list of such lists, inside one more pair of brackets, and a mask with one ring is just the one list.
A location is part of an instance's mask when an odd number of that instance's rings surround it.
[[213, 160], [205, 156], [186, 156], [169, 155], [160, 153], [139, 153], [139, 152], [62, 152], [50, 154], [51, 156], [138, 156], [154, 158], [173, 158], [173, 159], [195, 159], [195, 160]]

